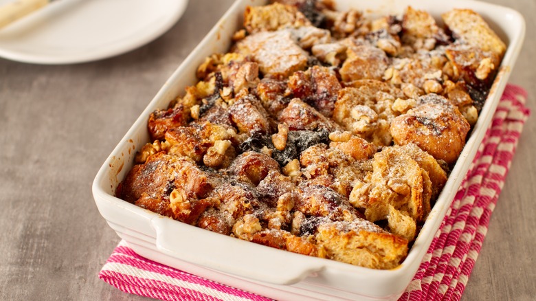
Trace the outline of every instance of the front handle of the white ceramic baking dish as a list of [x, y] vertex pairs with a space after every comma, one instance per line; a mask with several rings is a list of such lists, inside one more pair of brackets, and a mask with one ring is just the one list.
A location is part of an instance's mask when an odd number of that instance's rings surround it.
[[159, 252], [227, 274], [292, 285], [324, 268], [318, 258], [242, 241], [163, 216], [151, 223]]

